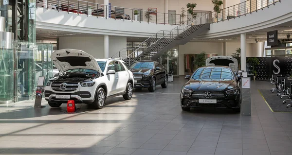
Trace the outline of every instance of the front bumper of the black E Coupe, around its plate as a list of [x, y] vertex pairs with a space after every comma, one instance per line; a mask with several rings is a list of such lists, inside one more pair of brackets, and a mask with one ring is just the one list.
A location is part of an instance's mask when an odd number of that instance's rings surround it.
[[199, 100], [199, 98], [190, 98], [181, 94], [181, 106], [193, 108], [240, 108], [241, 99], [239, 97], [239, 94], [236, 94], [226, 96], [223, 99], [216, 99], [216, 103], [200, 103]]

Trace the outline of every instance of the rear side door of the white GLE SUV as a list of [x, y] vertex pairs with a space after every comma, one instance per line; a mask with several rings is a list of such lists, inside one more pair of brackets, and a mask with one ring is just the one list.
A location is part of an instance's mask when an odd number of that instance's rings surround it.
[[129, 73], [119, 61], [115, 61], [116, 73], [119, 75], [117, 93], [126, 91]]

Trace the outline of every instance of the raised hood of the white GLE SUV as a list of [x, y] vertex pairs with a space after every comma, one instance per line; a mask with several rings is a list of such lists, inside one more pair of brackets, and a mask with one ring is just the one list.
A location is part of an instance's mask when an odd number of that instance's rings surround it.
[[91, 69], [102, 73], [94, 57], [81, 50], [57, 50], [52, 53], [51, 59], [55, 67], [61, 72], [69, 69]]

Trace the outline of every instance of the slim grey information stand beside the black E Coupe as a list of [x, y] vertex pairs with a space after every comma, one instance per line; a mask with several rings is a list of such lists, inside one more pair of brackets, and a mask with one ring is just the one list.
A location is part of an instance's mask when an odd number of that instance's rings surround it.
[[251, 115], [251, 78], [241, 79], [241, 115]]

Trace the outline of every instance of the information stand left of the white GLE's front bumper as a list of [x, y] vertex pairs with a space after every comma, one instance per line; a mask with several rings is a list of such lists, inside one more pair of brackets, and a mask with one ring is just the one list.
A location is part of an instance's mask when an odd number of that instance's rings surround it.
[[36, 90], [36, 100], [35, 100], [35, 108], [42, 108], [45, 106], [41, 106], [42, 94], [45, 89], [45, 77], [39, 76], [37, 81], [37, 90]]

